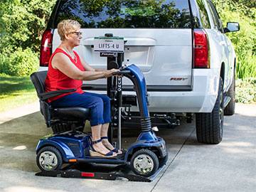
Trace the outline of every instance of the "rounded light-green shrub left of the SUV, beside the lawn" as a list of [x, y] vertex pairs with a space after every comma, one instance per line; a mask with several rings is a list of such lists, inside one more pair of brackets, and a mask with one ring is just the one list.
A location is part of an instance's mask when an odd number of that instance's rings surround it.
[[38, 55], [30, 48], [18, 48], [9, 55], [0, 57], [0, 73], [27, 76], [38, 70]]

